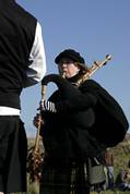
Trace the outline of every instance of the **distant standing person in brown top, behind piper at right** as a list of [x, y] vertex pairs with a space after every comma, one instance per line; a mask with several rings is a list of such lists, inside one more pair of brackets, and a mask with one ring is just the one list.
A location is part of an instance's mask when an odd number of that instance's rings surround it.
[[108, 180], [108, 189], [114, 187], [114, 155], [113, 151], [107, 148], [105, 153], [105, 162], [107, 168], [107, 180]]

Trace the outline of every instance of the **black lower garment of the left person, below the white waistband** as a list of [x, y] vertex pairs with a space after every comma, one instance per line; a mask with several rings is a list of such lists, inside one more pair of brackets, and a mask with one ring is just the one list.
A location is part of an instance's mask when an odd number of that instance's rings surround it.
[[0, 116], [0, 192], [26, 192], [27, 140], [17, 116]]

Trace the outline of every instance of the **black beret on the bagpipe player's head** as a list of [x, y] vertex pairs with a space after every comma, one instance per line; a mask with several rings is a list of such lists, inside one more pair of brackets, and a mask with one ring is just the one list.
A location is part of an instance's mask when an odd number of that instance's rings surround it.
[[59, 64], [59, 62], [62, 58], [69, 58], [69, 59], [72, 59], [73, 62], [79, 62], [79, 63], [85, 64], [85, 60], [83, 59], [83, 57], [81, 57], [80, 52], [76, 52], [73, 49], [67, 49], [67, 50], [63, 50], [62, 52], [60, 52], [56, 57], [55, 62], [57, 64]]

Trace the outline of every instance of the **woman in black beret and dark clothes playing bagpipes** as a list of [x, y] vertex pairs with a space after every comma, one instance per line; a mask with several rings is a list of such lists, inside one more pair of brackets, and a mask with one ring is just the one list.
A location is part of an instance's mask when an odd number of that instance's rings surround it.
[[[104, 163], [107, 146], [122, 141], [128, 121], [115, 99], [95, 81], [78, 85], [88, 72], [80, 52], [66, 49], [55, 62], [63, 77], [49, 74], [42, 81], [43, 85], [56, 83], [58, 90], [40, 102], [45, 160], [39, 193], [88, 194], [91, 182], [104, 181], [104, 172], [98, 173], [103, 168], [94, 168], [94, 172], [93, 167]], [[34, 118], [36, 126], [39, 119]], [[90, 181], [88, 172], [96, 174], [96, 180], [91, 175]]]

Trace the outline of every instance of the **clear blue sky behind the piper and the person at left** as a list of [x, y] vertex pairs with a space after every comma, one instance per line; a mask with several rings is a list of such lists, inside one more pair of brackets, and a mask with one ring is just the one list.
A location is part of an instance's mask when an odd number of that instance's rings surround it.
[[[42, 25], [47, 74], [58, 73], [55, 58], [68, 48], [79, 51], [88, 66], [111, 54], [111, 60], [92, 78], [115, 97], [130, 122], [130, 1], [17, 0], [17, 3]], [[48, 84], [46, 98], [55, 89], [55, 84]], [[36, 133], [33, 118], [38, 113], [40, 90], [39, 83], [25, 88], [21, 96], [27, 136]]]

